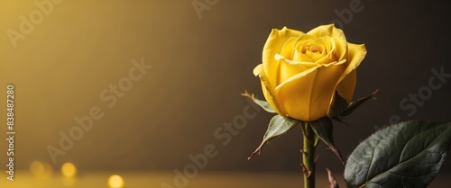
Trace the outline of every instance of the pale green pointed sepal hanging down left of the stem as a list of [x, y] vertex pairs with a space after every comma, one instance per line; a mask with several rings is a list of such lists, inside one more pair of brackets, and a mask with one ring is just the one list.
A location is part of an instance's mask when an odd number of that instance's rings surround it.
[[296, 125], [298, 125], [299, 121], [283, 117], [281, 115], [275, 115], [272, 117], [272, 120], [270, 121], [270, 124], [268, 126], [268, 130], [266, 130], [266, 133], [263, 136], [262, 144], [255, 149], [253, 154], [248, 157], [247, 159], [251, 159], [255, 154], [259, 153], [263, 146], [270, 141], [273, 138], [276, 138], [280, 136], [281, 134], [287, 132], [288, 130], [293, 129]]

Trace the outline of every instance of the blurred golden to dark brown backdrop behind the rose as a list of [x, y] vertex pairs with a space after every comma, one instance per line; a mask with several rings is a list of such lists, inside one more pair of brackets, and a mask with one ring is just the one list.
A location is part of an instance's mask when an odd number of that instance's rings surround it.
[[[431, 69], [451, 74], [449, 7], [405, 0], [1, 0], [0, 98], [13, 83], [15, 168], [39, 160], [55, 169], [69, 161], [86, 171], [171, 173], [207, 146], [216, 155], [199, 174], [300, 172], [299, 129], [250, 161], [272, 114], [255, 112], [241, 129], [226, 130], [248, 108], [244, 90], [262, 98], [253, 67], [271, 30], [283, 26], [309, 31], [336, 22], [348, 41], [366, 45], [354, 98], [379, 93], [345, 119], [348, 126], [336, 123], [345, 157], [391, 121], [451, 121], [449, 80], [419, 103], [409, 101], [428, 86]], [[415, 112], [400, 107], [405, 99]], [[78, 119], [91, 126], [80, 129]], [[1, 164], [6, 149], [2, 142]], [[329, 167], [341, 176], [344, 166], [325, 145], [318, 154], [320, 173]], [[451, 161], [442, 170], [451, 173]]]

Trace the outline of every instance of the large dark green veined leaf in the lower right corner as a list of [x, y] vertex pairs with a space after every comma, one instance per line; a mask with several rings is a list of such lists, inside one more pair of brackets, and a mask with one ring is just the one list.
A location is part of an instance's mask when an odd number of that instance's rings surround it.
[[426, 187], [451, 145], [451, 123], [406, 121], [379, 130], [346, 161], [348, 187]]

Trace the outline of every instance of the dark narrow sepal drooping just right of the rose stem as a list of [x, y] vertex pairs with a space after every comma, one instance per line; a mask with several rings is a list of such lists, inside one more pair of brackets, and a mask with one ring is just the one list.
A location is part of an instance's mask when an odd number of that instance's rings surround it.
[[315, 134], [318, 135], [319, 139], [323, 140], [323, 142], [336, 154], [336, 157], [340, 159], [340, 161], [345, 164], [345, 160], [343, 160], [343, 157], [336, 148], [334, 144], [334, 124], [332, 121], [325, 117], [321, 118], [318, 121], [310, 121], [308, 122], [312, 130], [315, 132]]

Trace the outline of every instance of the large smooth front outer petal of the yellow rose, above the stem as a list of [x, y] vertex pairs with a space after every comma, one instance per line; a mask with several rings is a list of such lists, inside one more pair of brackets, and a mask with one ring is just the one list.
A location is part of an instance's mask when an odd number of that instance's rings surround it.
[[336, 82], [345, 67], [337, 65], [312, 67], [278, 85], [274, 91], [281, 109], [291, 118], [316, 121], [327, 115]]

